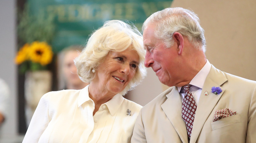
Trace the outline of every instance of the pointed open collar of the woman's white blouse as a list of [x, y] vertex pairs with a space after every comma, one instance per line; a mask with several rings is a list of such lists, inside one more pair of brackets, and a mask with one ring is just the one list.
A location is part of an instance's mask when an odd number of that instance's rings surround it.
[[[83, 103], [90, 101], [90, 100], [91, 100], [91, 98], [89, 97], [89, 85], [87, 85], [86, 87], [81, 89], [81, 91], [79, 93], [78, 107], [81, 106]], [[124, 98], [121, 94], [116, 94], [111, 100], [109, 100], [108, 102], [105, 103], [112, 116], [117, 112], [117, 110], [118, 110], [119, 106], [122, 104], [123, 100], [124, 100]]]

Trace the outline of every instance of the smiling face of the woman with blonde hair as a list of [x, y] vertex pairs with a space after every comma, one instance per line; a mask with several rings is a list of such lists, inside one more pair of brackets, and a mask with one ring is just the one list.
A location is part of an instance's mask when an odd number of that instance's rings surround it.
[[93, 81], [98, 82], [99, 90], [117, 94], [132, 80], [138, 65], [139, 55], [131, 47], [123, 52], [110, 51], [96, 70]]

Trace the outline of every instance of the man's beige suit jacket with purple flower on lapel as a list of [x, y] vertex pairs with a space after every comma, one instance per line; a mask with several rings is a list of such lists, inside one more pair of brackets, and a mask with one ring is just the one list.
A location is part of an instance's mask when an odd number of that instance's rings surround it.
[[[222, 92], [215, 95], [212, 87], [220, 87]], [[207, 96], [204, 91], [208, 91]], [[188, 143], [181, 106], [177, 87], [161, 93], [141, 109], [131, 142]], [[236, 111], [236, 115], [213, 122], [215, 111], [224, 108]], [[190, 143], [253, 142], [256, 142], [256, 82], [211, 65], [197, 106]]]

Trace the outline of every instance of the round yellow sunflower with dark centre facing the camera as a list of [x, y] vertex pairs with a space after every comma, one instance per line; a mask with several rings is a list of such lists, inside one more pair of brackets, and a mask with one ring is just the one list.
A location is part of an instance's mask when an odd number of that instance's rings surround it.
[[34, 41], [30, 45], [29, 57], [32, 62], [47, 65], [52, 61], [52, 47], [46, 42]]

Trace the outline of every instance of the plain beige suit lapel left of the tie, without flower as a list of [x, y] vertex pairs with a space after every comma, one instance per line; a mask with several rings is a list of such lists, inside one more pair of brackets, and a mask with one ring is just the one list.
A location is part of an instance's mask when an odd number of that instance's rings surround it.
[[187, 129], [186, 124], [181, 118], [181, 97], [177, 87], [174, 87], [166, 97], [167, 100], [161, 105], [161, 107], [180, 136], [181, 141], [183, 143], [187, 143]]

